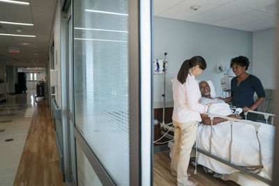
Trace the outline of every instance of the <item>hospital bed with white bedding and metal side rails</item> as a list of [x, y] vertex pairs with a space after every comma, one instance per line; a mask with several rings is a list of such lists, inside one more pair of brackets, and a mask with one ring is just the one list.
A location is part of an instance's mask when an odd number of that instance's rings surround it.
[[[211, 87], [211, 91], [212, 89]], [[263, 114], [266, 123], [270, 116], [274, 117], [273, 114], [259, 111], [250, 112]], [[191, 156], [195, 157], [196, 166], [201, 164], [218, 173], [223, 180], [233, 180], [239, 185], [271, 185], [274, 127], [266, 123], [238, 120], [219, 114], [206, 114], [211, 118], [211, 125], [198, 127], [197, 140], [191, 153]], [[213, 125], [214, 117], [225, 118], [228, 121]], [[166, 124], [163, 121], [160, 126], [161, 134], [171, 139], [168, 146], [172, 150], [172, 123]], [[248, 130], [251, 134], [254, 131], [255, 135], [252, 135], [253, 140], [247, 139], [247, 145], [244, 141], [248, 137]], [[242, 133], [238, 136], [239, 139], [236, 139], [236, 133]], [[171, 153], [172, 151], [170, 156]]]

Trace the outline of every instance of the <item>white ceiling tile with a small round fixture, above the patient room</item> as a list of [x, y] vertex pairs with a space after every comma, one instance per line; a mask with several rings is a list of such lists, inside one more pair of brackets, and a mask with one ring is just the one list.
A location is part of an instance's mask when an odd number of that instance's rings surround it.
[[[205, 13], [206, 11], [217, 8], [218, 6], [221, 6], [223, 4], [225, 4], [225, 2], [216, 0], [183, 1], [182, 3], [179, 3], [179, 5], [173, 6], [163, 13], [160, 13], [159, 16], [169, 17], [177, 20], [187, 20], [190, 17]], [[201, 8], [199, 8], [199, 10], [192, 10], [190, 9], [190, 6], [193, 5], [199, 5], [201, 6]]]

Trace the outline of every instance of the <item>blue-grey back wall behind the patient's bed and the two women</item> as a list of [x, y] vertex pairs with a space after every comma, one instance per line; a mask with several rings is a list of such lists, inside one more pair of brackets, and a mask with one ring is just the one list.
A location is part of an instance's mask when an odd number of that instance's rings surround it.
[[[166, 101], [172, 102], [172, 82], [183, 61], [192, 56], [203, 56], [206, 70], [197, 79], [211, 79], [220, 95], [220, 78], [217, 65], [229, 65], [235, 56], [252, 60], [252, 33], [210, 26], [194, 22], [172, 20], [164, 17], [153, 19], [153, 60], [163, 59], [167, 52]], [[248, 72], [252, 68], [248, 69]], [[153, 102], [162, 102], [163, 75], [153, 75]]]

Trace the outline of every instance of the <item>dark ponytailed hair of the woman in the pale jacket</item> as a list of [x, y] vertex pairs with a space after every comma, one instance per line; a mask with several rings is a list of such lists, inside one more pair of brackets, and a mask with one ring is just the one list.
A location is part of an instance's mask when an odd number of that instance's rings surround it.
[[189, 74], [189, 69], [199, 65], [199, 68], [204, 70], [206, 69], [206, 62], [202, 56], [193, 56], [191, 59], [184, 61], [179, 69], [177, 79], [181, 84], [186, 82], [186, 79]]

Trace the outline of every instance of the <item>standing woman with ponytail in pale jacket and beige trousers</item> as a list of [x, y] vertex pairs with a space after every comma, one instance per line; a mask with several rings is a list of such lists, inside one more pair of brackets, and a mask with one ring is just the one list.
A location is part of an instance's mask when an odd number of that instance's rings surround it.
[[174, 148], [172, 151], [171, 171], [177, 177], [177, 185], [196, 185], [188, 180], [190, 151], [197, 134], [197, 122], [202, 121], [200, 114], [207, 111], [212, 102], [199, 104], [201, 93], [195, 77], [206, 69], [202, 56], [193, 56], [183, 62], [179, 73], [172, 82], [174, 98]]

